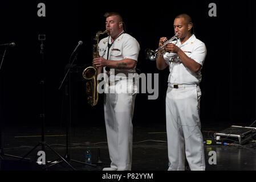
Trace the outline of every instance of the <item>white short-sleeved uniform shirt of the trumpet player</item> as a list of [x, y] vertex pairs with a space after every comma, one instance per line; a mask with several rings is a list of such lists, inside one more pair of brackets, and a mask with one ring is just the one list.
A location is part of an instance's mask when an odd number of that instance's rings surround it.
[[[178, 39], [176, 46], [178, 46], [184, 53], [203, 65], [206, 56], [206, 47], [201, 40], [192, 35], [185, 43], [181, 44]], [[201, 82], [201, 69], [197, 73], [190, 71], [184, 64], [181, 63], [180, 58], [176, 53], [164, 54], [166, 64], [169, 64], [170, 74], [168, 78], [169, 84], [199, 84]], [[202, 68], [202, 67], [201, 67]]]

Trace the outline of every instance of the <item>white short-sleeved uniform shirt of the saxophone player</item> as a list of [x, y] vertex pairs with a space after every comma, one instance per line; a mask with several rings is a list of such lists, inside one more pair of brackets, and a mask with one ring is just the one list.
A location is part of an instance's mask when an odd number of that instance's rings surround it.
[[[131, 35], [124, 33], [121, 34], [116, 40], [114, 40], [111, 48], [109, 48], [109, 56], [107, 58], [108, 40], [109, 44], [111, 44], [111, 38], [109, 36], [107, 38], [101, 39], [99, 42], [99, 55], [101, 57], [114, 61], [120, 61], [123, 59], [132, 59], [137, 61], [140, 51], [140, 45], [137, 40]], [[136, 73], [135, 68], [115, 69], [115, 75], [118, 73], [124, 73], [125, 76], [128, 76], [128, 73]], [[106, 73], [105, 67], [104, 73]], [[109, 75], [113, 75], [112, 71], [110, 71]]]

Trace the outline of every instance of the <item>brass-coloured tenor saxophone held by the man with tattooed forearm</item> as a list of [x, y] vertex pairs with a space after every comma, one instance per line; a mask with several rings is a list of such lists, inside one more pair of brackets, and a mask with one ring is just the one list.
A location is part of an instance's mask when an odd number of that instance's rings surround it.
[[[96, 57], [100, 57], [99, 55], [99, 35], [107, 33], [109, 30], [105, 30], [104, 32], [98, 31], [95, 39], [96, 44], [92, 47], [92, 59], [95, 59]], [[95, 106], [97, 104], [97, 101], [99, 99], [99, 94], [97, 92], [97, 87], [99, 85], [99, 80], [97, 80], [98, 75], [98, 68], [95, 67], [94, 63], [92, 63], [91, 67], [87, 67], [83, 71], [83, 77], [84, 79], [88, 80], [86, 82], [86, 94], [87, 94], [87, 102], [91, 106]]]

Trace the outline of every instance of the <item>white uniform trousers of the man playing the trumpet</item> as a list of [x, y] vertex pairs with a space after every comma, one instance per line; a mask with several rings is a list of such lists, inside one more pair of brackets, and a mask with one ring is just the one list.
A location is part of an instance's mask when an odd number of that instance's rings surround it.
[[185, 170], [185, 156], [190, 170], [205, 170], [204, 141], [200, 123], [199, 86], [170, 88], [166, 93], [166, 131], [169, 171]]

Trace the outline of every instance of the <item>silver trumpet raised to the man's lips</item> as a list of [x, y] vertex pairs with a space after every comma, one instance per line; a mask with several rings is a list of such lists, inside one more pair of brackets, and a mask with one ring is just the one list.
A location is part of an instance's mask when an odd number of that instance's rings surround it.
[[160, 56], [162, 56], [162, 55], [164, 55], [164, 53], [165, 53], [165, 49], [164, 49], [164, 47], [167, 45], [167, 44], [170, 44], [171, 42], [173, 42], [173, 40], [175, 40], [176, 39], [176, 43], [174, 43], [174, 44], [177, 44], [177, 40], [178, 40], [178, 38], [177, 38], [177, 36], [178, 36], [178, 33], [177, 34], [175, 34], [172, 38], [170, 38], [169, 40], [168, 39], [166, 39], [166, 40], [164, 40], [164, 44], [162, 44], [162, 46], [160, 46], [159, 48], [157, 48], [155, 51], [153, 51], [153, 50], [151, 50], [151, 49], [147, 49], [146, 50], [146, 57], [147, 57], [147, 59], [149, 59], [149, 60], [151, 60], [151, 61], [155, 61], [156, 59], [157, 59], [157, 53], [158, 52], [160, 52]]

